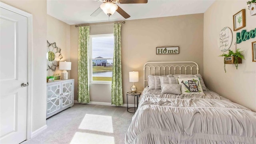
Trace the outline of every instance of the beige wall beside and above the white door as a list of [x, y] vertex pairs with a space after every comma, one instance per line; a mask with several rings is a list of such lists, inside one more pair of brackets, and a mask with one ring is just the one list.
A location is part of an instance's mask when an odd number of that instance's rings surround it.
[[32, 132], [46, 125], [46, 0], [1, 0], [33, 15]]

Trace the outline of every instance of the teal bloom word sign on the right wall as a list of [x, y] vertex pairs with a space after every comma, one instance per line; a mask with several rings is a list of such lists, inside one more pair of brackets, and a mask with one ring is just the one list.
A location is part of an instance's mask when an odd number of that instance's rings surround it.
[[246, 30], [242, 30], [242, 32], [236, 33], [236, 43], [239, 44], [242, 41], [249, 40], [250, 38], [255, 38], [256, 36], [256, 28], [254, 30], [250, 30], [250, 32], [246, 32]]

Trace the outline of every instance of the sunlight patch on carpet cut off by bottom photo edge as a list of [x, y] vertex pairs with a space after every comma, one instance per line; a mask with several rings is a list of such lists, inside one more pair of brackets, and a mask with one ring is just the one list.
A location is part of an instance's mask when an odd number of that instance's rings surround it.
[[76, 132], [70, 144], [115, 144], [113, 136]]

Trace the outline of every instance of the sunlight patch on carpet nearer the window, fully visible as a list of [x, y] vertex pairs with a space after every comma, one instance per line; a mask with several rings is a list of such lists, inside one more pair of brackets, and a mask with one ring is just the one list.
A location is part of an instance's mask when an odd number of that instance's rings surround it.
[[86, 114], [79, 129], [113, 133], [112, 116]]

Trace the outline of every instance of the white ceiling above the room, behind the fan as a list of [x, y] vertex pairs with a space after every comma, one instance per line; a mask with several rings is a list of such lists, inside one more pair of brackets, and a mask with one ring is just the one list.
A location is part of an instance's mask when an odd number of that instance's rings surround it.
[[[117, 4], [131, 17], [123, 18], [118, 12], [110, 16], [110, 21], [135, 20], [204, 13], [214, 0], [148, 0], [147, 4]], [[67, 24], [108, 22], [102, 11], [98, 16], [90, 16], [102, 2], [97, 0], [47, 0], [47, 14]]]

